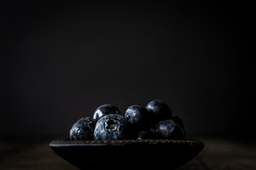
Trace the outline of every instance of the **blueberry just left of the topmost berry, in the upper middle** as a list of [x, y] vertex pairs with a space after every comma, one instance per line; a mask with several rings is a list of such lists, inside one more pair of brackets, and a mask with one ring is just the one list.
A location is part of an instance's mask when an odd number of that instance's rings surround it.
[[124, 116], [127, 118], [129, 123], [135, 125], [138, 129], [149, 127], [149, 118], [151, 118], [151, 116], [149, 115], [149, 111], [142, 106], [129, 106], [127, 111], [125, 111]]

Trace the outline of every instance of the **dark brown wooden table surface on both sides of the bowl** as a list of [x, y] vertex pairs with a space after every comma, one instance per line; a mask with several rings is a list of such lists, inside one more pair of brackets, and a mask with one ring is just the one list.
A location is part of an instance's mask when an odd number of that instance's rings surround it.
[[[256, 169], [256, 140], [199, 140], [205, 143], [203, 151], [178, 170]], [[1, 140], [0, 169], [78, 170], [50, 149], [50, 141]]]

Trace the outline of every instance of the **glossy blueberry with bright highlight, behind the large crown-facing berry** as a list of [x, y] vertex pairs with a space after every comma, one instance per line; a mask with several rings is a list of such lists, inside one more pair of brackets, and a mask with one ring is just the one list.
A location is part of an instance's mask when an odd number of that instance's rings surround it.
[[93, 118], [97, 121], [100, 118], [102, 118], [105, 115], [110, 115], [110, 114], [119, 114], [121, 115], [119, 109], [116, 106], [112, 106], [111, 104], [104, 104], [102, 106], [99, 106], [94, 115]]

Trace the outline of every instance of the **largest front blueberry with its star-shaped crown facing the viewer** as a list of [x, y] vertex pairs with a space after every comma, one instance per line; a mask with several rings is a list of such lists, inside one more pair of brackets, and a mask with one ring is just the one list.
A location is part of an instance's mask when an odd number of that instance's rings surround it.
[[95, 140], [129, 139], [129, 121], [123, 115], [105, 115], [97, 121], [94, 130]]

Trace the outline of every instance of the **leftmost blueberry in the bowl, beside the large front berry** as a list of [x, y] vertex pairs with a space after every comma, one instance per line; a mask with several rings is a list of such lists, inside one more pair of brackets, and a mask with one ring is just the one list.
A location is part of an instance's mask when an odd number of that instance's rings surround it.
[[93, 140], [95, 124], [90, 117], [81, 118], [70, 129], [70, 140]]

